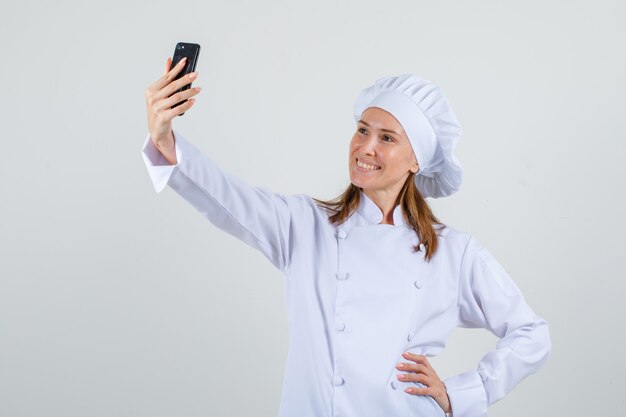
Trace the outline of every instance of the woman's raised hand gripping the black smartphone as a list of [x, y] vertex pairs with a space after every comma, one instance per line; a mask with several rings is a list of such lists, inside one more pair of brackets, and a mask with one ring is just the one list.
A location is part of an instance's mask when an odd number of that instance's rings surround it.
[[[168, 58], [163, 76], [152, 83], [145, 92], [150, 137], [170, 164], [177, 162], [174, 135], [172, 134], [172, 119], [189, 110], [195, 102], [190, 97], [195, 96], [201, 90], [200, 87], [189, 88], [172, 95], [179, 88], [191, 83], [198, 75], [197, 72], [192, 72], [173, 81], [184, 68], [185, 62], [186, 59], [183, 59], [174, 68], [171, 68], [172, 59]], [[174, 104], [185, 99], [188, 99], [185, 103], [171, 108]]]

